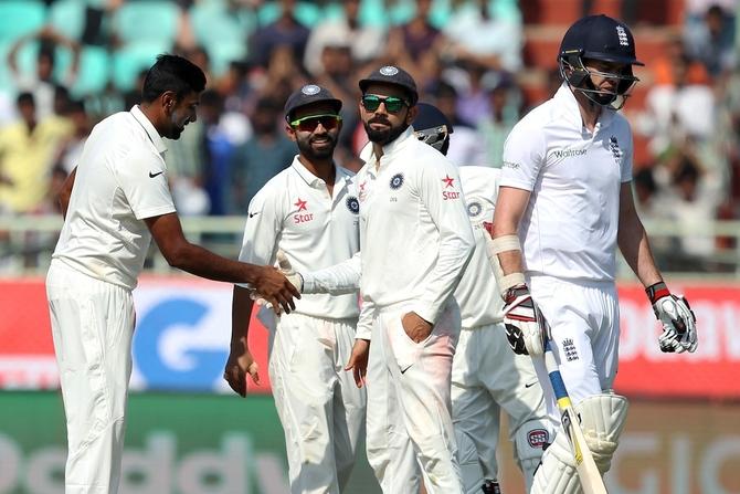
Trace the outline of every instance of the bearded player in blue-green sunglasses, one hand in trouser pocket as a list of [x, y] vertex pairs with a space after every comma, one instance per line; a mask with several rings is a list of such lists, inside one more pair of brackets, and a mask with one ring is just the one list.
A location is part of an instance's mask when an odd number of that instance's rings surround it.
[[362, 255], [288, 278], [305, 293], [361, 287], [347, 370], [367, 383], [368, 461], [382, 491], [417, 494], [423, 476], [430, 494], [462, 493], [450, 396], [461, 327], [453, 293], [474, 239], [459, 177], [416, 139], [419, 95], [405, 71], [383, 66], [360, 90], [370, 139], [357, 176]]

